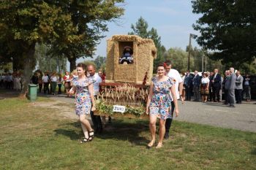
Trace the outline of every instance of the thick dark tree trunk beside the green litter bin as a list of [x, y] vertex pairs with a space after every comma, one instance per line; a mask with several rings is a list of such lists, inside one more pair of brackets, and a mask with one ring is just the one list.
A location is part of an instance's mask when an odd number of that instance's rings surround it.
[[35, 43], [29, 46], [28, 52], [26, 53], [24, 59], [24, 72], [22, 79], [22, 90], [20, 93], [20, 98], [26, 98], [28, 93], [29, 83], [31, 80], [31, 75], [33, 74], [34, 67], [36, 66], [36, 58], [34, 56]]

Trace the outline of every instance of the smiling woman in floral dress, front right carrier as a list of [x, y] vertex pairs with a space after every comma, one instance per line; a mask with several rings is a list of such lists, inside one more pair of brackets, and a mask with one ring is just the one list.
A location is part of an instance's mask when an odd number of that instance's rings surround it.
[[156, 142], [156, 123], [159, 118], [159, 142], [156, 148], [162, 147], [162, 141], [165, 135], [165, 120], [171, 118], [171, 102], [175, 104], [176, 117], [178, 117], [178, 103], [175, 92], [175, 84], [172, 78], [165, 76], [163, 64], [157, 66], [158, 77], [151, 80], [148, 101], [146, 105], [146, 114], [149, 113], [149, 129], [151, 133], [151, 142], [147, 147], [153, 147]]

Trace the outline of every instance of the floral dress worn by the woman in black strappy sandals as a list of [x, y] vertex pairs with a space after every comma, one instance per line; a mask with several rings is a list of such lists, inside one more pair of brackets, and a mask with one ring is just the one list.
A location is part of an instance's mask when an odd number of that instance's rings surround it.
[[91, 112], [91, 98], [88, 86], [92, 83], [90, 78], [79, 80], [78, 77], [72, 79], [72, 85], [76, 89], [76, 109], [77, 115], [89, 115]]

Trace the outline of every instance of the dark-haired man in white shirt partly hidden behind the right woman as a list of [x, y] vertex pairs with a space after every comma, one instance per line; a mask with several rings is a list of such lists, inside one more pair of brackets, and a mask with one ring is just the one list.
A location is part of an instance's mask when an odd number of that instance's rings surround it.
[[[181, 101], [184, 101], [184, 98], [182, 95], [182, 90], [183, 90], [183, 80], [181, 78], [181, 74], [176, 69], [172, 69], [172, 64], [170, 61], [165, 61], [165, 72], [168, 77], [171, 77], [175, 80], [175, 88], [176, 88], [176, 96], [177, 99], [181, 98]], [[172, 124], [173, 121], [173, 111], [174, 111], [174, 102], [171, 102], [172, 105], [172, 118], [168, 118], [165, 122], [165, 139], [169, 138], [169, 131], [170, 131], [170, 125]]]

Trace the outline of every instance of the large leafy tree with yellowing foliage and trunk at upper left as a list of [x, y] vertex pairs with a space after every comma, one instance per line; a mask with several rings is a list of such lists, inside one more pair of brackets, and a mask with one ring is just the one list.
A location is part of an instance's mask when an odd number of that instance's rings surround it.
[[23, 96], [36, 65], [38, 42], [50, 44], [57, 56], [67, 56], [73, 69], [76, 58], [92, 55], [102, 31], [108, 30], [107, 21], [123, 14], [116, 6], [123, 1], [0, 1], [0, 45], [8, 47], [1, 56], [23, 61]]

